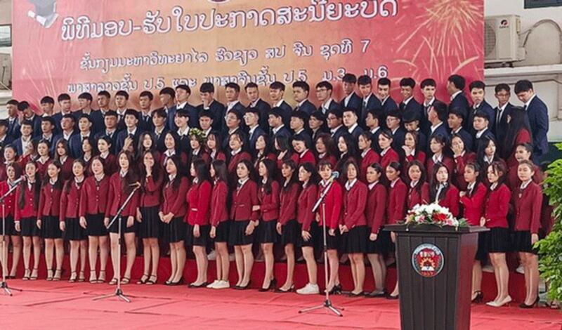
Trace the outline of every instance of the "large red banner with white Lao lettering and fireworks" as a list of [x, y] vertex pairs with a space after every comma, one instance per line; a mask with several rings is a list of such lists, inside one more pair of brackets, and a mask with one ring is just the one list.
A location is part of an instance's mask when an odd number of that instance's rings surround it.
[[14, 96], [34, 104], [205, 81], [328, 80], [339, 99], [346, 72], [392, 79], [397, 98], [401, 77], [433, 77], [446, 100], [450, 74], [483, 77], [483, 0], [13, 1]]

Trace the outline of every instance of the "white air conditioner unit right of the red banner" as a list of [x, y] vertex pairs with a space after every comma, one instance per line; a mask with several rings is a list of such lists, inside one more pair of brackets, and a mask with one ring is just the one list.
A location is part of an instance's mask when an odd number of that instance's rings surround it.
[[519, 46], [521, 20], [517, 15], [490, 16], [484, 22], [484, 62], [509, 63], [525, 60]]

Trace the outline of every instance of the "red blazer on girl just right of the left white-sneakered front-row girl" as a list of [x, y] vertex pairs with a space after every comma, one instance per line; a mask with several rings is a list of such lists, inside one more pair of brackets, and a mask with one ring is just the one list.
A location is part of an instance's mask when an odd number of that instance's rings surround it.
[[252, 206], [259, 205], [258, 185], [252, 180], [233, 191], [230, 219], [235, 221], [258, 220], [259, 212], [251, 211]]

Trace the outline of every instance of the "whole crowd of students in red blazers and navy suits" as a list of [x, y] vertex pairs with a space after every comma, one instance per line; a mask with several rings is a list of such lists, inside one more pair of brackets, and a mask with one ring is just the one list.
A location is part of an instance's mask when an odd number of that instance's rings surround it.
[[[185, 85], [162, 89], [163, 107], [156, 110], [149, 91], [139, 96], [140, 110], [128, 107], [125, 91], [115, 94], [116, 110], [110, 109], [107, 91], [96, 95], [99, 110], [92, 110], [90, 93], [79, 95], [77, 110], [70, 95], [59, 95], [59, 112], [45, 96], [41, 114], [26, 101], [10, 100], [8, 119], [0, 121], [0, 194], [17, 185], [5, 204], [3, 237], [13, 250], [8, 276], [15, 277], [22, 253], [23, 279], [37, 279], [44, 239], [47, 280], [60, 280], [67, 240], [70, 282], [86, 280], [89, 260], [89, 282], [116, 284], [120, 274], [112, 279], [105, 274], [110, 252], [114, 266], [121, 256], [119, 222], [110, 225], [110, 220], [132, 194], [121, 213], [123, 284], [131, 281], [138, 237], [144, 258], [138, 284], [157, 283], [165, 242], [171, 275], [164, 284], [183, 283], [188, 246], [197, 264], [190, 287], [231, 287], [233, 249], [237, 282], [232, 287], [247, 289], [253, 247], [259, 246], [266, 266], [260, 291], [294, 291], [294, 266], [302, 255], [308, 284], [296, 292], [319, 293], [316, 258], [325, 222], [326, 290], [341, 292], [343, 254], [353, 274], [350, 296], [398, 298], [398, 283], [389, 293], [384, 289], [396, 237], [382, 228], [402, 221], [416, 204], [438, 203], [471, 225], [490, 228], [478, 240], [473, 301], [482, 299], [481, 268], [488, 259], [497, 282], [497, 297], [488, 305], [511, 301], [506, 253], [516, 252], [525, 273], [521, 307], [530, 308], [539, 281], [532, 244], [551, 227], [543, 173], [533, 163], [548, 149], [547, 107], [530, 81], [515, 85], [524, 107], [509, 103], [507, 84], [495, 86], [498, 105], [491, 107], [482, 81], [469, 85], [471, 105], [465, 84], [458, 75], [446, 81], [448, 105], [436, 100], [433, 79], [421, 81], [421, 103], [414, 98], [414, 79], [401, 79], [403, 100], [396, 103], [389, 79], [379, 79], [375, 93], [370, 77], [353, 74], [343, 77], [345, 97], [339, 102], [332, 99], [332, 84], [318, 83], [318, 107], [308, 100], [310, 86], [304, 81], [292, 84], [294, 108], [283, 99], [280, 82], [269, 86], [270, 102], [260, 98], [256, 84], [244, 86], [249, 105], [240, 103], [241, 88], [234, 83], [226, 84], [226, 105], [208, 83], [199, 88], [203, 103], [197, 107], [188, 103], [191, 89]], [[334, 171], [341, 173], [337, 180]], [[279, 285], [273, 276], [277, 246], [287, 263], [287, 279]], [[207, 283], [210, 247], [216, 253], [216, 280]], [[363, 290], [365, 256], [374, 275], [371, 293]]]

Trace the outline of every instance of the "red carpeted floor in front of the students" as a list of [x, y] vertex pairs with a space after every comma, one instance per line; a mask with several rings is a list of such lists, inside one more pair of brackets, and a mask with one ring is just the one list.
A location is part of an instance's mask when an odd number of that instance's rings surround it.
[[[25, 291], [0, 296], [0, 329], [400, 329], [398, 301], [384, 298], [334, 296], [344, 308], [344, 317], [336, 317], [325, 310], [298, 313], [322, 303], [320, 295], [128, 284], [123, 290], [132, 303], [124, 303], [92, 300], [115, 290], [108, 284], [14, 279], [9, 285]], [[562, 313], [473, 305], [471, 328], [558, 330]]]

